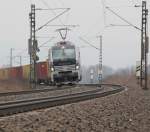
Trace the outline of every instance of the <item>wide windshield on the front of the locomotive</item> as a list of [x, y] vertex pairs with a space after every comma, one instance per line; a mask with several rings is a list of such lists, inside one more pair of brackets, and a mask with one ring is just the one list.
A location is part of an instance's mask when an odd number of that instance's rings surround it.
[[76, 63], [74, 48], [54, 48], [52, 57], [54, 65], [72, 65]]

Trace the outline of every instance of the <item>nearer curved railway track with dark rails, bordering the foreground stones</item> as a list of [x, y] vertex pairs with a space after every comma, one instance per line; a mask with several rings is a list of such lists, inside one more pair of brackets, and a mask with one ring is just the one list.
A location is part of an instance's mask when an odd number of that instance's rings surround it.
[[[81, 85], [83, 86], [83, 85]], [[83, 90], [77, 93], [71, 93], [53, 97], [42, 97], [37, 99], [19, 100], [12, 102], [0, 103], [0, 116], [8, 116], [31, 110], [54, 107], [64, 104], [76, 103], [79, 101], [89, 100], [98, 97], [121, 92], [125, 87], [120, 85], [103, 84], [102, 87], [98, 85], [84, 85], [92, 87], [92, 90]]]

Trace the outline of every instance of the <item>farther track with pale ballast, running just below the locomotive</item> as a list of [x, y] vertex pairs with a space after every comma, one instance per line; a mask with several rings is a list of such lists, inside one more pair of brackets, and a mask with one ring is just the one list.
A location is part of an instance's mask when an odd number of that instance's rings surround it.
[[[94, 85], [96, 86], [96, 85]], [[76, 93], [78, 91], [93, 89], [91, 85], [73, 85], [73, 86], [63, 86], [63, 87], [41, 87], [41, 89], [30, 90], [30, 91], [20, 91], [20, 92], [9, 92], [0, 94], [0, 103], [12, 102], [17, 100], [25, 99], [35, 99], [41, 97], [53, 97], [59, 95], [66, 95], [71, 93]], [[97, 86], [98, 87], [98, 86]]]

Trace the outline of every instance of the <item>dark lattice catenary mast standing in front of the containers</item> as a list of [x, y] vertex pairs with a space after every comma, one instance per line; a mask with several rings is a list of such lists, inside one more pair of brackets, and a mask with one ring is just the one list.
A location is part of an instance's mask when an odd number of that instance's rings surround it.
[[[37, 75], [36, 75], [36, 64], [39, 60], [37, 56], [38, 43], [36, 40], [36, 20], [35, 20], [35, 5], [31, 5], [30, 17], [30, 39], [28, 43], [28, 53], [30, 55], [30, 87], [36, 89]], [[33, 85], [32, 85], [33, 84]]]

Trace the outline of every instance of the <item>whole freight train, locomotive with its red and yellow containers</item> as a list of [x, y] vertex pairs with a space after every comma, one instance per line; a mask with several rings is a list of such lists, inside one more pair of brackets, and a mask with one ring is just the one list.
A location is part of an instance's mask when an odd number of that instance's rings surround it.
[[[76, 83], [81, 80], [80, 52], [71, 42], [59, 42], [49, 49], [48, 59], [36, 65], [37, 83]], [[29, 81], [30, 65], [0, 69], [0, 80]]]

